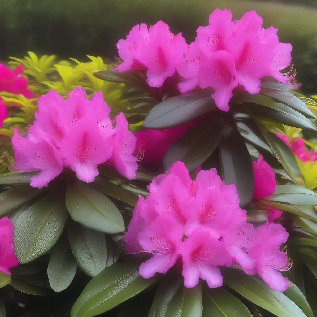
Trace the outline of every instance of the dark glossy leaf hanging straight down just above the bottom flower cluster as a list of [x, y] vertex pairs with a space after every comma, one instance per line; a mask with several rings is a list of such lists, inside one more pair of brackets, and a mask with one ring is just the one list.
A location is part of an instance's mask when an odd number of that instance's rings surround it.
[[253, 195], [253, 167], [249, 151], [233, 120], [225, 122], [218, 148], [223, 180], [226, 184], [236, 185], [243, 208]]

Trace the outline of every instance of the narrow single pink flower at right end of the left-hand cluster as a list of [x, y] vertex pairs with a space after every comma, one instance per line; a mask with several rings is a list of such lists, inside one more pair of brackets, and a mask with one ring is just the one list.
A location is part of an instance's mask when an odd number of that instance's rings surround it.
[[133, 179], [138, 169], [137, 159], [133, 155], [136, 137], [131, 131], [128, 131], [128, 127], [128, 121], [123, 113], [118, 114], [116, 116], [113, 161], [121, 175]]

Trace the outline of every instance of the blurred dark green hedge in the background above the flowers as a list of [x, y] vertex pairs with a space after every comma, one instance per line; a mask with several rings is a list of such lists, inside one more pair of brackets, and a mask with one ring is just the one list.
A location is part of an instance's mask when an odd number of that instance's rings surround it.
[[[308, 1], [308, 0], [307, 0]], [[279, 28], [281, 41], [294, 46], [298, 80], [306, 92], [317, 90], [317, 10], [240, 0], [0, 0], [0, 58], [57, 54], [113, 57], [115, 43], [137, 23], [164, 20], [174, 33], [191, 41], [215, 8], [229, 8], [239, 18], [256, 10], [265, 25]]]

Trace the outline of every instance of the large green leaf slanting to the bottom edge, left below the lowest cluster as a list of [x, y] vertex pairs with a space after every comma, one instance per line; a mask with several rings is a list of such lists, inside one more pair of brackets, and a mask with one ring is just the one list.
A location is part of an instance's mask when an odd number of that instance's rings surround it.
[[93, 317], [107, 312], [139, 294], [156, 282], [160, 275], [144, 279], [137, 262], [115, 263], [95, 276], [75, 301], [71, 317]]

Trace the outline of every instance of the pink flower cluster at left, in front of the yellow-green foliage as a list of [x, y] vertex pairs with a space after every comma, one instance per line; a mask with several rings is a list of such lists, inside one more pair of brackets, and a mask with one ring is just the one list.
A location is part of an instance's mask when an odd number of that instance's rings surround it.
[[51, 90], [38, 100], [35, 122], [27, 138], [15, 129], [12, 144], [16, 169], [40, 172], [31, 186], [43, 187], [57, 177], [63, 166], [90, 183], [98, 175], [97, 165], [114, 164], [126, 178], [135, 178], [138, 168], [133, 156], [136, 138], [120, 113], [115, 127], [110, 108], [98, 92], [87, 100], [82, 87], [75, 88], [64, 100]]

